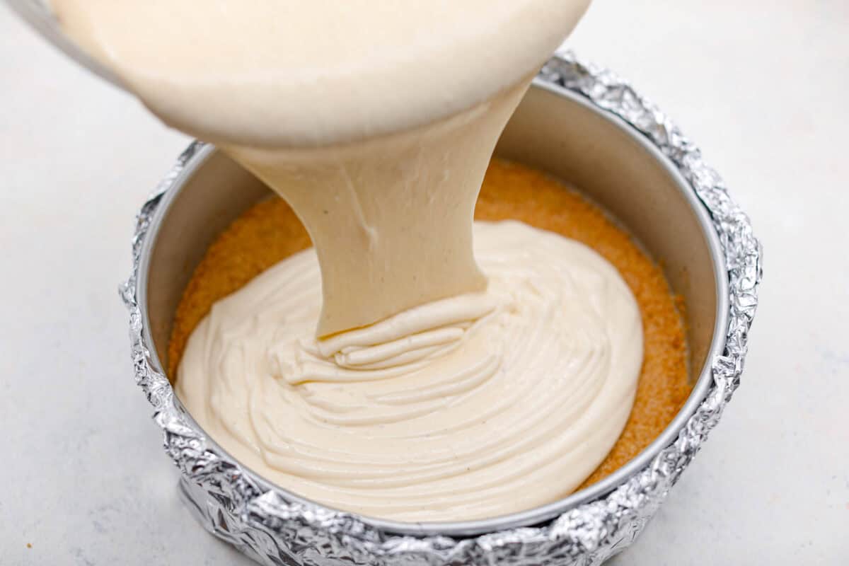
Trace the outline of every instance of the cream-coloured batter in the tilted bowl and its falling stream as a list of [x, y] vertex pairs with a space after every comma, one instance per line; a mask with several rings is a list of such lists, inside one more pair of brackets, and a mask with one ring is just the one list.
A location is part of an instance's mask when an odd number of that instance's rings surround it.
[[486, 287], [471, 243], [486, 164], [588, 3], [52, 2], [156, 115], [290, 202], [322, 270], [318, 336]]

